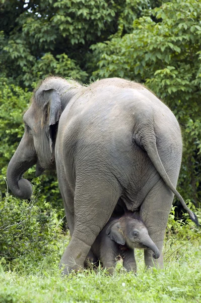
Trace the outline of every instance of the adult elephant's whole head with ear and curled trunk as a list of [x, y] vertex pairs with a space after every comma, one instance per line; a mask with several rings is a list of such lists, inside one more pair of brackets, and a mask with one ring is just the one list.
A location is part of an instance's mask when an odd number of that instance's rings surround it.
[[11, 159], [7, 181], [12, 192], [21, 199], [32, 195], [31, 183], [23, 174], [36, 164], [36, 176], [55, 169], [54, 145], [60, 115], [81, 85], [59, 77], [48, 77], [35, 90], [32, 103], [23, 120], [25, 132]]

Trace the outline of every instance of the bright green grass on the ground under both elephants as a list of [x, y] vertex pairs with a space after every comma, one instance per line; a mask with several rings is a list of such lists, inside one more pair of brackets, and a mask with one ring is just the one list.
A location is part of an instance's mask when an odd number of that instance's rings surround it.
[[[186, 227], [181, 229], [185, 232]], [[138, 250], [137, 275], [118, 268], [108, 276], [98, 268], [61, 278], [58, 264], [49, 258], [39, 266], [33, 264], [29, 272], [6, 271], [2, 263], [0, 302], [200, 302], [201, 233], [193, 228], [189, 234], [168, 236], [163, 270], [145, 271], [143, 251]]]

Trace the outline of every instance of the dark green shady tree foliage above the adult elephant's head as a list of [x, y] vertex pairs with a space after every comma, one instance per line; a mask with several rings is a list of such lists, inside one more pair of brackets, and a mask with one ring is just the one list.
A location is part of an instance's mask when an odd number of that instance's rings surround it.
[[[86, 81], [90, 45], [118, 27], [129, 31], [148, 0], [4, 1], [0, 6], [0, 77], [31, 87], [47, 74]], [[124, 24], [124, 25], [123, 25]]]

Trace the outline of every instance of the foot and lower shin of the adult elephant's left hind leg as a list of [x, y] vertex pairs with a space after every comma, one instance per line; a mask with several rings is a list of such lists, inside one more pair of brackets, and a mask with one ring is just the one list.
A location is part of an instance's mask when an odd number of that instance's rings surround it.
[[84, 269], [85, 259], [89, 250], [89, 245], [80, 239], [72, 237], [59, 264], [59, 268], [62, 269], [61, 274], [69, 275], [72, 272]]

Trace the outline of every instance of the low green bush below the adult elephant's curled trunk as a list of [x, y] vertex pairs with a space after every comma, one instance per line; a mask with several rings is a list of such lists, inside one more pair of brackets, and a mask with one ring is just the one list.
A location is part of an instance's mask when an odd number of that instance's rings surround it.
[[36, 267], [44, 260], [59, 260], [60, 222], [55, 210], [36, 197], [20, 201], [9, 194], [0, 206], [0, 258], [9, 268]]

